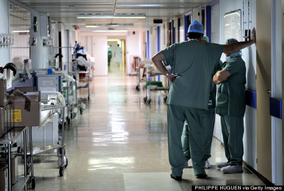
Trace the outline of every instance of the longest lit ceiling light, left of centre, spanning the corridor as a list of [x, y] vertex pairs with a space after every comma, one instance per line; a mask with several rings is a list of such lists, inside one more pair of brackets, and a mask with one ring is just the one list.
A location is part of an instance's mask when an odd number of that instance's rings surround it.
[[78, 14], [77, 18], [145, 18], [144, 14]]

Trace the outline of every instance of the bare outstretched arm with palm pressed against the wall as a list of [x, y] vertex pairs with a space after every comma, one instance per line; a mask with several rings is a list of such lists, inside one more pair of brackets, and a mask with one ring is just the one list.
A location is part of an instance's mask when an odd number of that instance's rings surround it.
[[235, 52], [246, 48], [256, 42], [256, 29], [255, 27], [252, 30], [252, 37], [250, 41], [247, 42], [233, 42], [231, 44], [224, 44], [223, 52]]

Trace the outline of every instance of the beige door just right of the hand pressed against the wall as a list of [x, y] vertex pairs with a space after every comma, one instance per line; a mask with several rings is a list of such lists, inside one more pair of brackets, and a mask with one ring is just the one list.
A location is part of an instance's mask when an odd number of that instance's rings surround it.
[[[271, 1], [258, 0], [257, 17], [257, 171], [272, 182]], [[264, 24], [265, 23], [265, 24]]]

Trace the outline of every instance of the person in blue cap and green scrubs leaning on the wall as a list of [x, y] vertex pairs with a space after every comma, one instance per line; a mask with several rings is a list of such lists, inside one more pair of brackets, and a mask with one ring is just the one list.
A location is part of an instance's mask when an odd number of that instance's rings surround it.
[[[230, 45], [201, 42], [203, 26], [194, 20], [188, 28], [184, 42], [174, 43], [156, 53], [152, 61], [157, 69], [172, 82], [167, 97], [168, 155], [172, 168], [170, 177], [182, 179], [185, 157], [182, 150], [181, 135], [184, 121], [189, 126], [189, 146], [193, 172], [197, 178], [205, 178], [204, 138], [201, 126], [205, 110], [208, 109], [212, 70], [220, 60], [222, 52], [232, 52], [255, 43], [255, 28], [252, 38], [247, 42]], [[166, 65], [170, 65], [170, 73]]]

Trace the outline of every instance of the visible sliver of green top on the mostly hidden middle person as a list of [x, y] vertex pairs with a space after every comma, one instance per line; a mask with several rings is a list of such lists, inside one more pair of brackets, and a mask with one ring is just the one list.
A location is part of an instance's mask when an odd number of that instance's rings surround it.
[[219, 62], [215, 65], [213, 72], [212, 72], [212, 78], [210, 82], [210, 95], [209, 95], [209, 102], [208, 102], [208, 111], [215, 111], [216, 106], [216, 84], [213, 83], [213, 76], [216, 74], [216, 72], [223, 66], [223, 62], [219, 60]]

